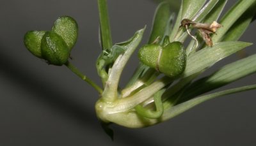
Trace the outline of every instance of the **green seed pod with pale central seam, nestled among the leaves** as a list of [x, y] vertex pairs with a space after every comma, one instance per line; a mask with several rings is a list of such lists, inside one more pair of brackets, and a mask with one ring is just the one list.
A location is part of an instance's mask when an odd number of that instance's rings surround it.
[[186, 51], [179, 41], [164, 47], [157, 44], [145, 45], [139, 50], [139, 59], [150, 68], [173, 78], [179, 76], [186, 68]]

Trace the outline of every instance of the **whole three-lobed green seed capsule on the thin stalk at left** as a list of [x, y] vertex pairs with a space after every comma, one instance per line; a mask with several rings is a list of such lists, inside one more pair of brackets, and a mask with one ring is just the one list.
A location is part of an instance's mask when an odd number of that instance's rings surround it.
[[61, 66], [68, 61], [77, 33], [76, 20], [63, 16], [54, 22], [51, 31], [28, 31], [24, 36], [24, 44], [36, 57]]

